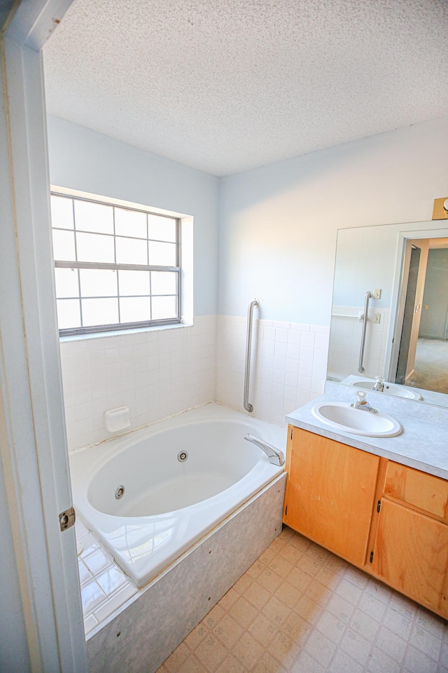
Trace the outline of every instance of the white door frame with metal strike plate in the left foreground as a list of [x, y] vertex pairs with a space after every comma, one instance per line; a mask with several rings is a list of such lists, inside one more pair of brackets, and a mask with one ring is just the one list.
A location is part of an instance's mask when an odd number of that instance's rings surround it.
[[22, 0], [1, 39], [0, 469], [30, 669], [83, 673], [74, 527], [61, 532], [58, 519], [72, 499], [41, 55], [71, 1]]

